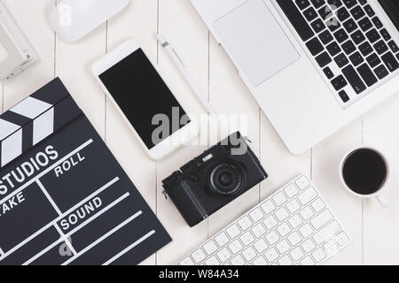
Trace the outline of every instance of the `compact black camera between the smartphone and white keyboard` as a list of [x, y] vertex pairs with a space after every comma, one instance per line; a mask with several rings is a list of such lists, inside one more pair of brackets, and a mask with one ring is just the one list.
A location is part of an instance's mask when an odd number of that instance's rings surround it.
[[164, 193], [192, 227], [267, 177], [246, 139], [237, 132], [162, 183]]

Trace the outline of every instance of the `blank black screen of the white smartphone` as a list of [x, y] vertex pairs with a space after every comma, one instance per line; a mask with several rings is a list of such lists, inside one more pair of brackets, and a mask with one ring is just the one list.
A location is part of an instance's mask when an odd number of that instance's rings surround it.
[[99, 79], [148, 149], [190, 123], [181, 123], [184, 109], [141, 49], [101, 73]]

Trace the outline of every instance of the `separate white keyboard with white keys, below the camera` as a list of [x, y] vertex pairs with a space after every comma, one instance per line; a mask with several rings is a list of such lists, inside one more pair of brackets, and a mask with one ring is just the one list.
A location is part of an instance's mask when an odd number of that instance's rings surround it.
[[178, 264], [322, 264], [349, 242], [325, 199], [302, 174]]

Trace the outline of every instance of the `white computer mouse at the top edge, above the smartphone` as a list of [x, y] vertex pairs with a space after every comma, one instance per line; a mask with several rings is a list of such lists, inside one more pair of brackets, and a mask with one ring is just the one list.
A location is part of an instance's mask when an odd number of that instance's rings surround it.
[[123, 10], [129, 0], [64, 0], [51, 13], [51, 27], [64, 42], [75, 42]]

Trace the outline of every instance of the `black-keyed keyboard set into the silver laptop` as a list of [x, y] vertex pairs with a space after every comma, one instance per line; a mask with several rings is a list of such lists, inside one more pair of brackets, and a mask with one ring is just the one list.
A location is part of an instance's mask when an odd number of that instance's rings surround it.
[[367, 0], [277, 0], [345, 106], [399, 68], [399, 48]]

